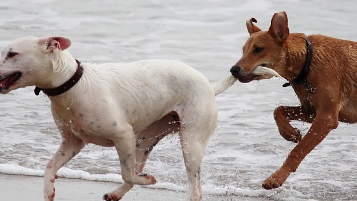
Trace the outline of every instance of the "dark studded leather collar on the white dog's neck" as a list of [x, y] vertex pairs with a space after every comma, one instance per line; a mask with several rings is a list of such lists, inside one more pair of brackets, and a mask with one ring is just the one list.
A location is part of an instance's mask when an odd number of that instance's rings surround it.
[[35, 94], [39, 95], [39, 93], [42, 91], [46, 95], [54, 96], [54, 95], [60, 95], [62, 93], [65, 93], [67, 90], [72, 88], [78, 82], [78, 80], [82, 77], [82, 74], [83, 74], [83, 66], [81, 65], [81, 62], [79, 62], [77, 59], [76, 59], [76, 62], [78, 64], [77, 71], [74, 73], [74, 75], [69, 80], [67, 80], [67, 82], [63, 83], [59, 87], [55, 87], [52, 89], [41, 89], [39, 87], [36, 87]]

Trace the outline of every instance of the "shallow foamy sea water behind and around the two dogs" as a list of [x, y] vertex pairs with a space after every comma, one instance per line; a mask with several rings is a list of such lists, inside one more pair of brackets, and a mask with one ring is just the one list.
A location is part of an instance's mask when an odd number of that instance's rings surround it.
[[[114, 1], [2, 0], [0, 47], [15, 38], [61, 35], [72, 39], [70, 52], [82, 62], [131, 62], [173, 59], [202, 72], [212, 83], [228, 74], [241, 57], [251, 17], [266, 30], [273, 13], [285, 10], [291, 32], [357, 40], [357, 1]], [[295, 146], [278, 134], [272, 112], [298, 105], [284, 80], [236, 83], [217, 96], [218, 126], [205, 152], [205, 193], [271, 200], [357, 199], [355, 126], [340, 123], [276, 190], [261, 182], [277, 170]], [[0, 173], [41, 175], [56, 151], [60, 135], [49, 100], [34, 87], [1, 95]], [[306, 132], [308, 123], [294, 122]], [[177, 134], [155, 147], [146, 172], [153, 187], [187, 190], [187, 177]], [[114, 148], [86, 146], [61, 168], [60, 175], [120, 182]], [[233, 198], [234, 199], [234, 198]]]

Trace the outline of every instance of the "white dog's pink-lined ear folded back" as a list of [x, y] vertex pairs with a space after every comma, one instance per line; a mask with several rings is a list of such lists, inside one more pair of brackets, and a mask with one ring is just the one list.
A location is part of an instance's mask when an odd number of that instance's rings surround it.
[[52, 52], [54, 49], [65, 50], [71, 46], [71, 40], [65, 37], [40, 38], [39, 45], [45, 52]]

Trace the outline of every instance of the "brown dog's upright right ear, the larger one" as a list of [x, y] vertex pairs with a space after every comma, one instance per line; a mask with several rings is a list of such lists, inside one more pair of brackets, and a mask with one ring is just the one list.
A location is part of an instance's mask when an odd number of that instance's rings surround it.
[[269, 33], [280, 43], [283, 43], [289, 36], [288, 16], [285, 11], [273, 15]]

